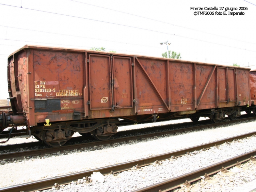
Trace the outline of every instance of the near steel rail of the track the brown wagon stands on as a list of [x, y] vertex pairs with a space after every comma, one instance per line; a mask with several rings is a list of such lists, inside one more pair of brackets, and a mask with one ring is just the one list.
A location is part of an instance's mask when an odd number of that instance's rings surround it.
[[[242, 119], [243, 121], [248, 119], [255, 119], [255, 117]], [[218, 124], [206, 124], [206, 125], [200, 125], [196, 127], [189, 127], [189, 128], [183, 128], [183, 129], [175, 129], [175, 130], [169, 130], [169, 131], [163, 131], [163, 132], [155, 132], [155, 133], [148, 133], [143, 135], [136, 135], [136, 136], [130, 136], [130, 137], [124, 137], [124, 138], [118, 138], [118, 139], [112, 139], [112, 140], [106, 140], [106, 141], [94, 141], [89, 143], [82, 143], [82, 144], [75, 144], [75, 145], [64, 145], [61, 147], [56, 148], [43, 148], [43, 149], [34, 149], [34, 150], [28, 150], [28, 151], [19, 151], [19, 152], [13, 152], [13, 153], [4, 153], [0, 154], [0, 160], [3, 159], [12, 159], [12, 158], [19, 158], [23, 156], [36, 156], [36, 155], [42, 155], [47, 153], [56, 153], [60, 151], [66, 151], [66, 150], [74, 150], [74, 149], [81, 149], [81, 148], [88, 148], [98, 145], [106, 145], [106, 144], [113, 144], [113, 143], [120, 143], [120, 142], [128, 142], [130, 140], [140, 140], [143, 138], [149, 138], [154, 136], [162, 136], [165, 134], [175, 134], [177, 132], [188, 132], [192, 130], [197, 129], [203, 129], [208, 128], [212, 126], [218, 126], [218, 125], [224, 125], [224, 124], [232, 124], [236, 122], [240, 122], [241, 120], [235, 120], [235, 121], [228, 121], [228, 122], [221, 122]], [[138, 130], [137, 130], [138, 131]]]

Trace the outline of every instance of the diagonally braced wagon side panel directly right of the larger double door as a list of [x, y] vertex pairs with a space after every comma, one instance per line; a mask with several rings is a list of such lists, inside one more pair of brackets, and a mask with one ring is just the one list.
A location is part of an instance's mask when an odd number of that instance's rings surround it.
[[[167, 67], [165, 63], [166, 61], [146, 60], [135, 57], [134, 77], [139, 115], [162, 113], [170, 110], [166, 97]], [[157, 66], [161, 67], [161, 69], [157, 68]], [[160, 71], [162, 72], [161, 75], [159, 74]]]

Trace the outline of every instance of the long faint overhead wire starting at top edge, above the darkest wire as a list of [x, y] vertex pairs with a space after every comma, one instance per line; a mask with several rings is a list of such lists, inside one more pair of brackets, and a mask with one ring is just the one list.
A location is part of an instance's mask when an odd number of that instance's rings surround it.
[[[153, 21], [169, 24], [169, 25], [172, 25], [172, 26], [176, 26], [176, 27], [180, 27], [180, 28], [185, 28], [185, 29], [190, 29], [190, 30], [193, 30], [193, 31], [198, 31], [198, 32], [201, 32], [201, 33], [206, 33], [206, 34], [210, 34], [210, 35], [214, 35], [214, 36], [219, 36], [219, 37], [223, 37], [223, 38], [227, 38], [227, 39], [232, 39], [232, 40], [236, 40], [236, 41], [240, 41], [240, 42], [244, 42], [244, 43], [256, 44], [256, 43], [247, 42], [247, 41], [243, 41], [243, 40], [238, 40], [238, 39], [234, 39], [234, 38], [230, 38], [230, 37], [226, 37], [226, 36], [221, 36], [221, 35], [205, 32], [205, 31], [200, 31], [200, 30], [197, 30], [197, 29], [192, 29], [192, 28], [188, 28], [188, 27], [184, 27], [184, 26], [180, 26], [180, 25], [174, 25], [172, 23], [168, 23], [168, 22], [164, 22], [164, 21], [160, 21], [160, 20], [156, 20], [156, 19], [151, 19], [151, 18], [148, 18], [148, 17], [140, 16], [140, 15], [135, 15], [135, 14], [132, 14], [132, 13], [122, 12], [122, 11], [118, 11], [118, 10], [115, 10], [115, 9], [110, 9], [110, 8], [106, 8], [106, 7], [102, 7], [102, 6], [98, 6], [98, 5], [93, 5], [93, 4], [84, 3], [84, 2], [75, 1], [75, 0], [70, 0], [70, 1], [74, 1], [74, 2], [82, 3], [82, 4], [87, 4], [87, 5], [91, 5], [91, 6], [95, 6], [95, 7], [100, 7], [102, 9], [108, 9], [108, 10], [111, 10], [111, 11], [121, 12], [121, 13], [125, 13], [125, 14], [128, 14], [128, 15], [133, 15], [133, 16], [136, 16], [136, 17], [140, 17], [140, 18], [144, 18], [144, 19], [148, 19], [148, 20], [153, 20]], [[246, 2], [248, 2], [248, 1], [246, 1]], [[250, 2], [248, 2], [248, 3], [250, 3]]]

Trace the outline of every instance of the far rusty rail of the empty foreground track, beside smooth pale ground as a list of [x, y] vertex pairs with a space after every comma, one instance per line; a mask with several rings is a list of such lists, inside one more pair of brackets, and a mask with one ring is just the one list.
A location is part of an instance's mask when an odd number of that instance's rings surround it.
[[[63, 176], [59, 176], [59, 177], [54, 177], [54, 178], [24, 183], [24, 184], [20, 184], [20, 185], [0, 188], [0, 192], [12, 192], [12, 191], [30, 192], [30, 191], [36, 191], [36, 190], [43, 190], [46, 188], [51, 188], [54, 183], [59, 183], [60, 185], [63, 185], [63, 184], [70, 183], [71, 181], [81, 179], [86, 176], [91, 176], [91, 174], [93, 172], [100, 172], [103, 175], [109, 174], [111, 171], [113, 171], [114, 173], [122, 172], [122, 171], [131, 169], [133, 166], [136, 166], [137, 164], [140, 167], [146, 166], [151, 163], [154, 163], [156, 160], [163, 161], [166, 159], [170, 159], [172, 156], [179, 157], [179, 156], [187, 154], [187, 152], [193, 152], [195, 150], [201, 150], [203, 148], [208, 149], [215, 145], [218, 146], [225, 142], [231, 142], [235, 139], [243, 139], [245, 137], [250, 137], [255, 134], [256, 134], [256, 132], [246, 133], [246, 134], [234, 136], [234, 137], [227, 138], [227, 139], [213, 141], [210, 143], [194, 146], [191, 148], [185, 148], [185, 149], [181, 149], [181, 150], [177, 150], [177, 151], [173, 151], [173, 152], [169, 152], [169, 153], [164, 153], [161, 155], [151, 156], [151, 157], [147, 157], [147, 158], [143, 158], [143, 159], [139, 159], [139, 160], [134, 160], [134, 161], [126, 162], [126, 163], [115, 164], [115, 165], [110, 165], [110, 166], [92, 169], [92, 170], [88, 170], [88, 171], [72, 173], [72, 174], [63, 175]], [[242, 160], [237, 160], [237, 161], [242, 162]], [[227, 166], [225, 165], [224, 167], [227, 167]], [[203, 170], [205, 173], [205, 169], [203, 169]], [[199, 176], [202, 176], [202, 174], [200, 173]], [[182, 180], [182, 183], [184, 183], [184, 179]]]

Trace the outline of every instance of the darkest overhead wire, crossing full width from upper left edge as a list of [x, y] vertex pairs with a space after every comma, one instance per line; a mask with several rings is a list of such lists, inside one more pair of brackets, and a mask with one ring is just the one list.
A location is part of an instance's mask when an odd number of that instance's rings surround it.
[[62, 13], [55, 13], [55, 12], [48, 12], [48, 11], [43, 11], [43, 10], [25, 8], [25, 7], [18, 7], [18, 6], [14, 6], [14, 5], [8, 5], [8, 4], [0, 4], [0, 5], [11, 6], [11, 7], [15, 7], [15, 8], [27, 9], [27, 10], [32, 10], [32, 11], [39, 11], [39, 12], [57, 14], [57, 15], [68, 16], [68, 17], [74, 17], [74, 18], [79, 18], [79, 19], [92, 20], [92, 21], [103, 22], [103, 23], [108, 23], [108, 24], [113, 24], [113, 25], [124, 26], [124, 27], [131, 27], [131, 28], [136, 28], [136, 29], [141, 29], [141, 30], [147, 30], [147, 31], [152, 31], [152, 32], [157, 32], [157, 33], [162, 33], [162, 34], [167, 34], [167, 35], [172, 35], [172, 36], [178, 36], [178, 37], [187, 38], [187, 39], [192, 39], [192, 40], [201, 41], [201, 42], [205, 42], [205, 43], [217, 44], [217, 45], [222, 45], [222, 46], [226, 46], [226, 47], [232, 47], [232, 48], [241, 49], [241, 50], [245, 50], [245, 51], [256, 52], [256, 51], [253, 51], [253, 50], [248, 50], [248, 49], [244, 49], [244, 48], [240, 48], [240, 47], [234, 47], [234, 46], [225, 45], [225, 44], [218, 44], [218, 43], [214, 43], [214, 42], [210, 42], [210, 41], [200, 40], [200, 39], [186, 37], [186, 36], [181, 36], [181, 35], [177, 35], [177, 34], [175, 35], [175, 34], [172, 34], [172, 33], [156, 31], [156, 30], [152, 30], [152, 29], [139, 28], [139, 27], [124, 25], [124, 24], [119, 24], [119, 23], [113, 23], [113, 22], [108, 22], [108, 21], [89, 19], [89, 18], [78, 17], [78, 16], [74, 16], [74, 15], [66, 15], [66, 14], [62, 14]]

